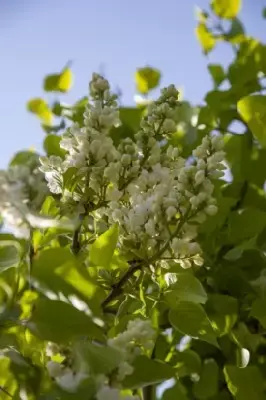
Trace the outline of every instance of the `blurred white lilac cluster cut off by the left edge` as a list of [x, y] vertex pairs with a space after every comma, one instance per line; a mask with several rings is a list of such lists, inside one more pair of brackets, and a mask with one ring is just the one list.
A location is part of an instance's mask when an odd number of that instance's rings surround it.
[[40, 206], [47, 192], [38, 168], [16, 165], [0, 171], [0, 215], [15, 236], [29, 236], [25, 215]]

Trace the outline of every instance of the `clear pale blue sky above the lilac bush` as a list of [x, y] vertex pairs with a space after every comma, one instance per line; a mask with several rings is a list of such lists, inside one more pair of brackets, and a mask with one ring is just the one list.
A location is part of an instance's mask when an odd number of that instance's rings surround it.
[[[41, 149], [38, 120], [27, 113], [31, 97], [43, 96], [42, 79], [73, 60], [75, 86], [64, 96], [86, 95], [93, 71], [105, 75], [133, 104], [134, 71], [147, 64], [163, 72], [162, 85], [184, 87], [185, 98], [201, 102], [211, 88], [206, 64], [227, 64], [231, 50], [219, 45], [205, 58], [195, 38], [194, 6], [208, 0], [0, 0], [0, 168], [15, 151]], [[261, 18], [265, 0], [243, 0], [247, 31], [266, 39]], [[45, 95], [47, 100], [54, 96]]]

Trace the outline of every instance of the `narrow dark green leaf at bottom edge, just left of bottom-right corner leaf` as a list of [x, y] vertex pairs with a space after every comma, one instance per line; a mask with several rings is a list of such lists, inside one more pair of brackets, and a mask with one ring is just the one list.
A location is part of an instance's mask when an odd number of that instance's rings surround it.
[[209, 399], [218, 393], [219, 368], [217, 363], [210, 359], [205, 360], [200, 379], [193, 386], [193, 393], [197, 399]]

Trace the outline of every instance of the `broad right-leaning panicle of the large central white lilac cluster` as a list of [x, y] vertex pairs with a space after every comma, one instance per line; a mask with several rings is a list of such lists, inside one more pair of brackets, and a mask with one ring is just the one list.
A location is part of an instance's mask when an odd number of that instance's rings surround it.
[[176, 148], [168, 146], [165, 151], [156, 142], [156, 151], [127, 186], [125, 200], [110, 202], [107, 210], [109, 221], [119, 223], [131, 248], [149, 259], [158, 246], [160, 252], [169, 243], [172, 256], [183, 266], [190, 266], [189, 259], [202, 262], [194, 240], [196, 224], [217, 212], [212, 181], [223, 176], [222, 145], [220, 137], [206, 136], [193, 151], [193, 164], [187, 165]]

